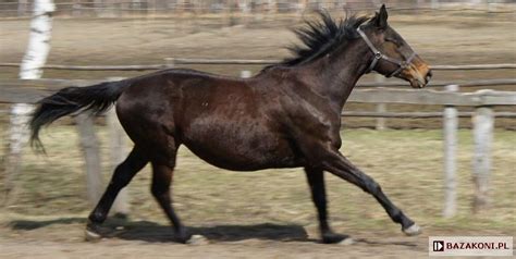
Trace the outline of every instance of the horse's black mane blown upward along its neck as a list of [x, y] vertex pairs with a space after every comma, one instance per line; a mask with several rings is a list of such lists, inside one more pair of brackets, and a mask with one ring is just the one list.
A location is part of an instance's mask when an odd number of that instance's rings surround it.
[[305, 26], [293, 30], [302, 44], [287, 47], [293, 57], [277, 65], [294, 66], [319, 59], [349, 39], [359, 37], [357, 27], [369, 20], [369, 16], [351, 15], [335, 21], [325, 11], [319, 11], [318, 15], [319, 20], [305, 21]]

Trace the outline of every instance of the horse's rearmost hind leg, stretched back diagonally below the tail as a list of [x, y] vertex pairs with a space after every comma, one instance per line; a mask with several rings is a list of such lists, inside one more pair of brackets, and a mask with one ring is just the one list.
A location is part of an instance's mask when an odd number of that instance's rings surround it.
[[87, 237], [95, 238], [99, 236], [99, 225], [106, 221], [116, 195], [147, 162], [148, 159], [142, 155], [137, 147], [134, 147], [127, 158], [116, 166], [108, 188], [88, 217]]

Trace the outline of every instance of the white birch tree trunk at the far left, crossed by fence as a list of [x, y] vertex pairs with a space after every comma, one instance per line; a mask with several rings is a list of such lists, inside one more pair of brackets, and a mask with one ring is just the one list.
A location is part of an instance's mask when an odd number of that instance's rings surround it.
[[[52, 0], [35, 0], [34, 16], [30, 22], [30, 37], [27, 51], [20, 67], [20, 78], [37, 79], [41, 77], [41, 66], [47, 61], [50, 51], [50, 35], [52, 30], [52, 12], [56, 5]], [[8, 157], [5, 161], [7, 203], [14, 198], [14, 177], [20, 171], [22, 149], [28, 140], [27, 122], [34, 107], [27, 103], [16, 103], [11, 110], [11, 126], [9, 132]]]

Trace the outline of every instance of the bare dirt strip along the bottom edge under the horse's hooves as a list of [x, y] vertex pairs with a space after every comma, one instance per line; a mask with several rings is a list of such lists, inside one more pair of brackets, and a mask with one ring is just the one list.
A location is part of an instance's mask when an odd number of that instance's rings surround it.
[[[237, 225], [208, 226], [195, 230], [209, 238], [209, 243], [182, 245], [171, 243], [170, 227], [148, 222], [137, 223], [120, 231], [116, 237], [99, 243], [82, 239], [82, 224], [73, 219], [64, 224], [45, 226], [17, 224], [17, 240], [0, 237], [1, 258], [427, 258], [428, 234], [476, 235], [478, 233], [447, 230], [426, 230], [418, 237], [404, 237], [381, 229], [354, 232], [353, 245], [318, 244], [306, 238], [305, 229], [296, 225]], [[65, 229], [63, 231], [63, 229]], [[226, 236], [221, 233], [229, 234]], [[482, 234], [490, 234], [483, 232]], [[491, 233], [514, 235], [514, 233]], [[231, 236], [230, 236], [231, 235]]]

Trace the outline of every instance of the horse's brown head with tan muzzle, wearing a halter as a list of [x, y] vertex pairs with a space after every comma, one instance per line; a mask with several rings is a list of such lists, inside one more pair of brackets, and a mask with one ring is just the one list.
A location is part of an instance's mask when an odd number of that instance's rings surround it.
[[414, 88], [422, 88], [428, 84], [432, 77], [430, 67], [389, 26], [385, 5], [367, 24], [359, 26], [358, 33], [373, 53], [368, 72], [374, 70], [386, 77], [408, 81]]

